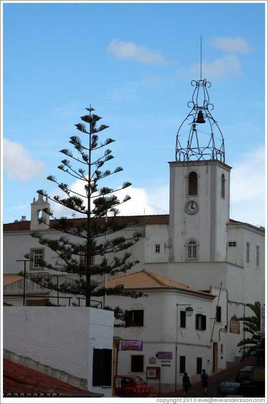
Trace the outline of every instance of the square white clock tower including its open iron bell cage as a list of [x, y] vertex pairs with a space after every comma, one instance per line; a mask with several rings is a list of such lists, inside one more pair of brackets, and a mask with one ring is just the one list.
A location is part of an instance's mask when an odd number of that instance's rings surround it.
[[176, 161], [169, 163], [169, 261], [226, 261], [231, 167], [225, 164], [224, 139], [210, 112], [210, 83], [201, 79], [191, 84], [192, 109], [179, 127]]

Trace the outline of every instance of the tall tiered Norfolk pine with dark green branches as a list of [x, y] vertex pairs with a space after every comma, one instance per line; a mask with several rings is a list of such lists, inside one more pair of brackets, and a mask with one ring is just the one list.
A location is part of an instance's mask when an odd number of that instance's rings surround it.
[[[117, 218], [120, 203], [117, 196], [114, 195], [114, 189], [100, 183], [108, 176], [122, 171], [122, 168], [100, 170], [104, 164], [114, 158], [110, 149], [101, 151], [103, 147], [111, 144], [114, 140], [108, 138], [103, 142], [99, 141], [97, 133], [105, 130], [108, 126], [97, 126], [101, 117], [92, 113], [93, 108], [90, 107], [87, 110], [89, 115], [81, 116], [81, 119], [88, 125], [85, 123], [75, 125], [84, 136], [85, 144], [80, 137], [72, 136], [69, 143], [73, 150], [68, 148], [60, 150], [66, 158], [61, 160], [58, 167], [61, 172], [67, 173], [72, 179], [79, 180], [83, 184], [82, 190], [80, 192], [74, 191], [68, 184], [58, 181], [55, 175], [50, 175], [47, 179], [57, 184], [61, 194], [50, 196], [43, 189], [37, 191], [63, 207], [78, 212], [80, 216], [84, 215], [85, 220], [66, 217], [56, 220], [51, 209], [44, 209], [43, 211], [54, 219], [50, 221], [50, 229], [57, 230], [62, 235], [53, 239], [51, 234], [46, 231], [32, 231], [30, 233], [32, 237], [38, 239], [41, 245], [54, 251], [58, 257], [56, 263], [39, 259], [36, 261], [37, 264], [43, 268], [60, 272], [62, 275], [72, 276], [59, 286], [50, 276], [27, 274], [27, 277], [44, 288], [59, 290], [60, 293], [64, 294], [84, 296], [86, 305], [89, 306], [90, 299], [95, 296], [99, 297], [106, 294], [137, 298], [143, 294], [125, 290], [122, 285], [105, 289], [100, 287], [100, 283], [92, 281], [92, 276], [101, 277], [104, 274], [112, 276], [117, 273], [125, 273], [131, 269], [138, 261], [129, 260], [128, 249], [138, 241], [139, 234], [133, 233], [129, 239], [115, 234], [124, 229], [127, 223], [123, 223]], [[124, 182], [119, 189], [130, 185], [129, 182]], [[62, 194], [63, 196], [61, 196]], [[129, 195], [125, 195], [121, 203], [129, 199]], [[112, 217], [104, 220], [107, 211], [112, 212]], [[25, 257], [32, 259], [30, 254], [25, 254]], [[92, 261], [93, 257], [97, 263]], [[99, 259], [96, 259], [97, 257]]]

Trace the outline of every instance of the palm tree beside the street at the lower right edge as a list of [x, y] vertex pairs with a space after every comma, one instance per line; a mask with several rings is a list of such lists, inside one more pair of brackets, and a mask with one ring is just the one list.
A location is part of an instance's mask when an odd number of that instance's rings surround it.
[[257, 358], [257, 365], [265, 364], [265, 336], [261, 333], [261, 303], [255, 301], [254, 304], [247, 303], [255, 314], [255, 316], [240, 317], [239, 321], [243, 322], [243, 331], [249, 332], [252, 336], [242, 339], [238, 343], [241, 350], [244, 351], [242, 359], [250, 357]]

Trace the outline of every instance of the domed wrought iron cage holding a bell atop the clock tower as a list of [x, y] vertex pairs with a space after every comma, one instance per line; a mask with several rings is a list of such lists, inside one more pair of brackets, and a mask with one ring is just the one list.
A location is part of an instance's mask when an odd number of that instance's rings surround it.
[[[224, 139], [217, 122], [212, 117], [210, 110], [214, 109], [209, 102], [208, 88], [210, 82], [204, 80], [192, 80], [191, 85], [195, 86], [192, 101], [188, 107], [192, 108], [189, 114], [179, 127], [176, 141], [176, 161], [197, 161], [197, 160], [218, 160], [225, 162]], [[187, 121], [190, 120], [190, 123]], [[183, 130], [185, 125], [190, 125], [190, 130]], [[208, 131], [205, 132], [199, 125], [206, 123]], [[183, 139], [187, 146], [183, 147]]]

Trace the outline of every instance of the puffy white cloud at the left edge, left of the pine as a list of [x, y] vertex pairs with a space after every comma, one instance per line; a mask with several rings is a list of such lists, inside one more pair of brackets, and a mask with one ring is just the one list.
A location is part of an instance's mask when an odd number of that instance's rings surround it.
[[23, 183], [35, 177], [44, 179], [44, 168], [45, 163], [32, 160], [22, 144], [3, 139], [3, 171], [9, 180]]

